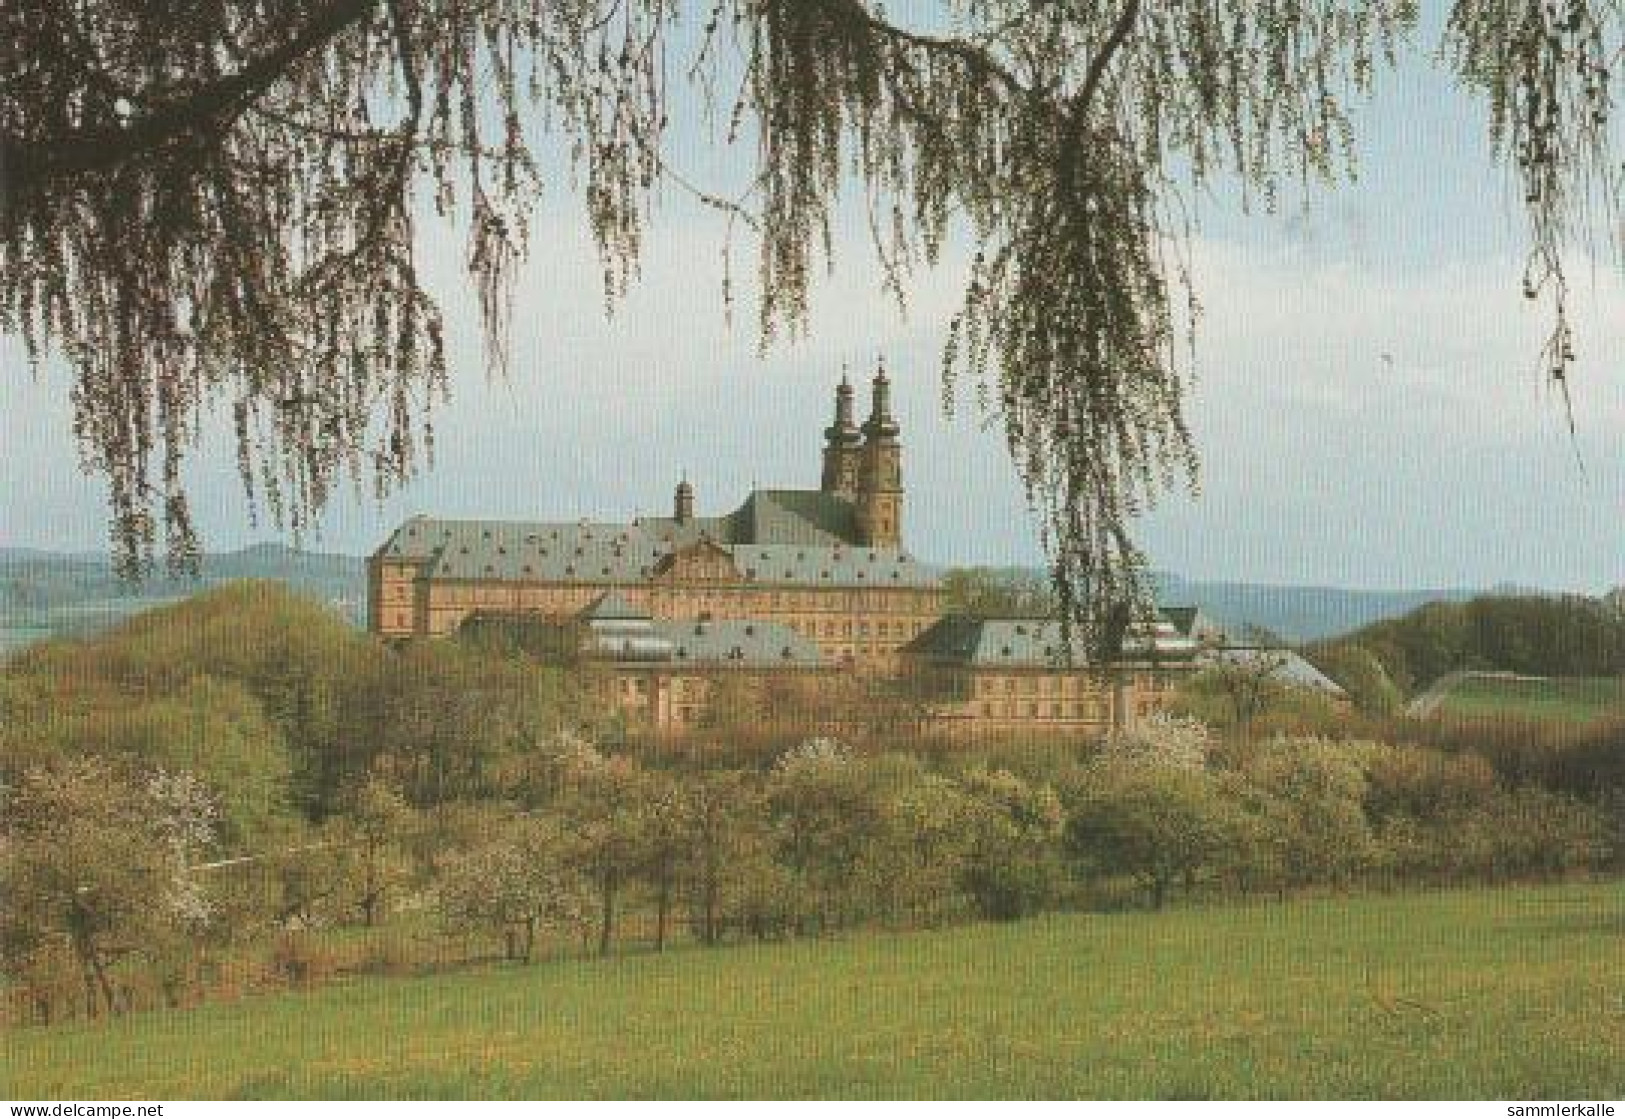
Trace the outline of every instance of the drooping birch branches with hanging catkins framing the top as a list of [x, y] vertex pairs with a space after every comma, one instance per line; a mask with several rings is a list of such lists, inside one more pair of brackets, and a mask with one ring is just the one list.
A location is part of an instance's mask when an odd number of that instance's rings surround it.
[[[611, 300], [665, 188], [726, 213], [764, 343], [806, 326], [850, 190], [899, 299], [970, 247], [944, 395], [972, 382], [1003, 422], [1063, 616], [1112, 638], [1147, 590], [1134, 515], [1194, 479], [1186, 203], [1217, 179], [1272, 206], [1349, 174], [1349, 106], [1417, 24], [1415, 0], [6, 5], [0, 330], [73, 365], [122, 570], [159, 521], [184, 567], [206, 409], [231, 416], [250, 502], [294, 531], [346, 473], [382, 492], [427, 461], [448, 390], [427, 214], [466, 229], [502, 369], [544, 185], [583, 187]], [[1552, 312], [1562, 388], [1563, 253], [1620, 192], [1625, 10], [1451, 0], [1443, 28], [1440, 65], [1485, 104], [1524, 205], [1521, 283]], [[738, 153], [738, 197], [668, 161], [707, 132]]]

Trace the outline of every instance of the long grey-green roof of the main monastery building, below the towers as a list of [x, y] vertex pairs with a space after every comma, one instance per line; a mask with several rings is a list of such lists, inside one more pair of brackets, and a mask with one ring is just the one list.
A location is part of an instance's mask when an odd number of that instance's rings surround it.
[[[635, 585], [671, 552], [710, 539], [733, 554], [746, 581], [790, 586], [936, 586], [907, 552], [847, 542], [837, 533], [850, 502], [804, 490], [756, 490], [720, 518], [481, 521], [414, 516], [375, 552], [429, 562], [439, 580]], [[847, 510], [847, 512], [843, 512]], [[843, 529], [842, 529], [843, 531]]]

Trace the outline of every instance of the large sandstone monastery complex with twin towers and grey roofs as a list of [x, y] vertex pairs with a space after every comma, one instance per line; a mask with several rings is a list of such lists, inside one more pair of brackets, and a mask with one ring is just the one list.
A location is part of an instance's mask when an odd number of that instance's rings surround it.
[[939, 573], [904, 547], [902, 430], [881, 369], [860, 426], [847, 378], [817, 489], [756, 489], [630, 523], [413, 516], [369, 557], [369, 629], [442, 637], [492, 619], [572, 627], [611, 668], [630, 723], [681, 734], [720, 680], [905, 684], [946, 731], [1098, 729], [1160, 706], [1196, 635], [1170, 611], [1108, 674], [1068, 664], [1042, 619], [947, 616]]

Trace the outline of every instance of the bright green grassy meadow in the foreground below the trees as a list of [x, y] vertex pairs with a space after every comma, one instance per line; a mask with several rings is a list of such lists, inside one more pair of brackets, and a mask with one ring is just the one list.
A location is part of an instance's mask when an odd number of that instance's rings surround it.
[[356, 979], [3, 1046], [28, 1098], [1625, 1095], [1625, 887]]

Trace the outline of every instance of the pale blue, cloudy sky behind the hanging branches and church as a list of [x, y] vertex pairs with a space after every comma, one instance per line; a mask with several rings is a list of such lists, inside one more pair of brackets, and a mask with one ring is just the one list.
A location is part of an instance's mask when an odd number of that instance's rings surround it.
[[[1191, 422], [1202, 492], [1141, 523], [1152, 560], [1191, 578], [1346, 586], [1625, 583], [1625, 284], [1580, 266], [1578, 451], [1536, 370], [1542, 318], [1519, 297], [1519, 224], [1485, 151], [1482, 112], [1412, 57], [1360, 114], [1360, 182], [1308, 214], [1202, 205], [1193, 247], [1204, 302]], [[694, 149], [696, 175], [723, 169]], [[439, 461], [375, 505], [341, 494], [315, 547], [364, 552], [411, 512], [626, 518], [663, 510], [687, 469], [702, 510], [752, 481], [816, 486], [842, 362], [886, 352], [904, 424], [905, 533], [925, 559], [1038, 562], [1037, 533], [996, 432], [968, 393], [941, 409], [938, 354], [962, 261], [918, 278], [900, 318], [861, 244], [814, 292], [812, 328], [757, 354], [748, 291], [730, 328], [722, 221], [671, 193], [644, 279], [614, 318], [578, 201], [538, 211], [520, 284], [514, 374], [483, 374], [462, 247], [424, 247], [452, 326], [453, 403]], [[738, 271], [751, 245], [738, 245]], [[1393, 362], [1384, 362], [1391, 354]], [[96, 549], [104, 487], [78, 471], [67, 372], [29, 382], [0, 341], [0, 544]], [[206, 546], [273, 538], [249, 525], [216, 427], [192, 471]], [[366, 494], [366, 490], [362, 490]]]

